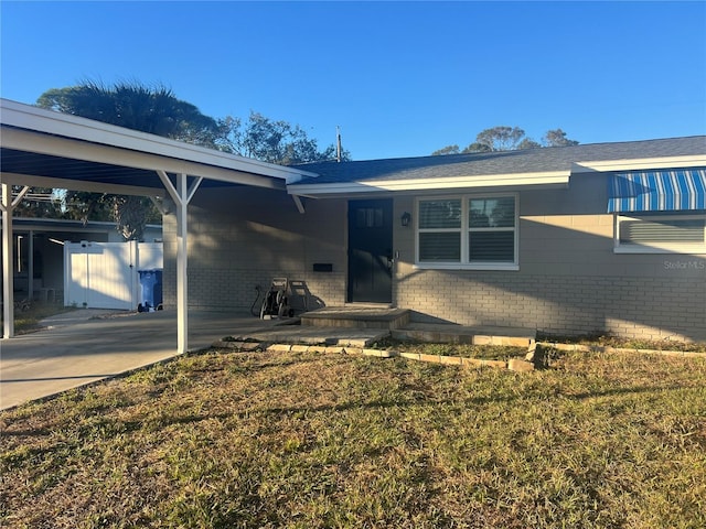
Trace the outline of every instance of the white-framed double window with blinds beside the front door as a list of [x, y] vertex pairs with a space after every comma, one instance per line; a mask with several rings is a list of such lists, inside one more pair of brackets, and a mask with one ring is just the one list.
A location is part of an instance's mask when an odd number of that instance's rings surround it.
[[516, 196], [417, 202], [417, 264], [517, 269]]

